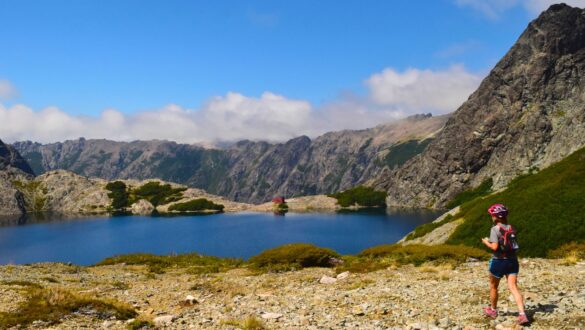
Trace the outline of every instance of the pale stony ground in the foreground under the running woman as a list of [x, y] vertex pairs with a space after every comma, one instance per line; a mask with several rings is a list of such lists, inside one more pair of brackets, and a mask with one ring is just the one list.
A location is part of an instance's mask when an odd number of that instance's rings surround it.
[[[534, 319], [529, 328], [584, 329], [585, 263], [524, 259], [521, 265], [520, 287]], [[152, 274], [143, 266], [125, 265], [8, 265], [0, 267], [0, 312], [14, 311], [24, 300], [14, 281], [31, 281], [127, 302], [139, 318], [172, 329], [237, 329], [250, 318], [267, 329], [519, 329], [504, 285], [500, 316], [489, 320], [481, 315], [488, 300], [486, 267], [486, 262], [468, 262], [456, 269], [404, 266], [367, 274], [311, 268], [196, 275], [184, 270]], [[125, 321], [91, 312], [74, 313], [58, 325], [31, 326], [126, 327]]]

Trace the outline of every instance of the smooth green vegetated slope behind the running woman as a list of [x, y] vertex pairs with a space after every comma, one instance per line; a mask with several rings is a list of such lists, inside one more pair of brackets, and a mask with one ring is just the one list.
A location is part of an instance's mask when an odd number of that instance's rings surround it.
[[489, 235], [487, 208], [503, 203], [518, 231], [521, 256], [544, 257], [569, 242], [585, 241], [585, 148], [535, 174], [522, 175], [506, 190], [461, 205], [456, 218], [465, 222], [449, 237], [449, 244], [483, 247]]

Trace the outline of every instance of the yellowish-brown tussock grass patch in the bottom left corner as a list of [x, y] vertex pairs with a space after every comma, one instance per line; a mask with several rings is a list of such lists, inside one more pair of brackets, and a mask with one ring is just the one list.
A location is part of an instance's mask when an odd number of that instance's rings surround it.
[[34, 321], [57, 324], [63, 317], [75, 312], [89, 312], [99, 318], [114, 316], [127, 320], [137, 315], [127, 304], [111, 299], [95, 299], [61, 288], [43, 288], [29, 285], [23, 289], [26, 300], [16, 311], [0, 313], [0, 328], [27, 326]]

